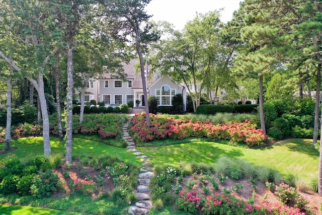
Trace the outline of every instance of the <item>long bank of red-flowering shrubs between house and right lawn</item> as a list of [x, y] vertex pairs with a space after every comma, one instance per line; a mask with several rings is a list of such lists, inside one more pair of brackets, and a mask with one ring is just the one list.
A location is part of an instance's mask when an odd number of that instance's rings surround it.
[[210, 121], [192, 122], [189, 119], [160, 118], [150, 114], [150, 128], [147, 128], [145, 114], [137, 114], [131, 120], [131, 134], [135, 140], [182, 139], [190, 136], [212, 139], [228, 139], [248, 146], [264, 145], [267, 139], [264, 131], [256, 129], [250, 120], [245, 122], [222, 123]]

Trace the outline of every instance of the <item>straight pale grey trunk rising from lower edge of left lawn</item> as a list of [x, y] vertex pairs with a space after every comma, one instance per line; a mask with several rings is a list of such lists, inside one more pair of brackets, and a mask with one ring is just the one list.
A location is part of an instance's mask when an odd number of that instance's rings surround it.
[[73, 89], [73, 64], [71, 43], [67, 46], [67, 121], [66, 121], [66, 162], [71, 161], [72, 151], [72, 89]]

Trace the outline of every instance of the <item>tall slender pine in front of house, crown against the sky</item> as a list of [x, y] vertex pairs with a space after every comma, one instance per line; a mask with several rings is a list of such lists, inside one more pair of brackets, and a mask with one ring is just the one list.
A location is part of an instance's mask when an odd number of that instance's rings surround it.
[[[100, 1], [106, 7], [107, 17], [112, 24], [115, 37], [135, 47], [139, 57], [140, 71], [143, 86], [144, 101], [147, 101], [146, 81], [144, 76], [144, 61], [142, 51], [146, 49], [151, 41], [158, 40], [156, 32], [151, 31], [152, 26], [148, 23], [151, 16], [144, 11], [150, 0], [114, 0]], [[146, 125], [150, 126], [149, 109], [145, 105]]]

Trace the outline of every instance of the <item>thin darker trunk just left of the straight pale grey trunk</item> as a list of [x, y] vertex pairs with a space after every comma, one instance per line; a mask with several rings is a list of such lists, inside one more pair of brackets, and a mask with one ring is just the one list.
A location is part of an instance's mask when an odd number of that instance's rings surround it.
[[59, 141], [62, 142], [63, 140], [63, 134], [62, 134], [62, 125], [61, 125], [61, 112], [60, 112], [60, 92], [59, 92], [59, 51], [56, 52], [55, 57], [57, 59], [57, 63], [54, 68], [54, 73], [55, 73], [55, 82], [56, 82], [56, 108], [57, 108], [57, 126], [58, 126], [58, 136], [59, 136]]

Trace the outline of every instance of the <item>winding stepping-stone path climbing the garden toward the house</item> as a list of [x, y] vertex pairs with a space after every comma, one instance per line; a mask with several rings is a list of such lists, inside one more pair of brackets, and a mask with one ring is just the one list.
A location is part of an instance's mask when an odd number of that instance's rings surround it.
[[123, 138], [127, 141], [127, 150], [133, 152], [137, 155], [137, 158], [142, 162], [142, 168], [140, 169], [140, 174], [138, 175], [139, 185], [136, 188], [136, 197], [138, 199], [135, 205], [130, 206], [128, 213], [132, 215], [144, 215], [147, 214], [149, 209], [152, 207], [152, 201], [150, 200], [149, 188], [150, 179], [154, 176], [153, 167], [149, 167], [152, 163], [149, 162], [150, 158], [146, 155], [142, 155], [135, 148], [135, 143], [132, 137], [128, 133], [129, 122], [131, 121], [134, 114], [130, 114], [130, 117], [126, 120], [123, 126]]

